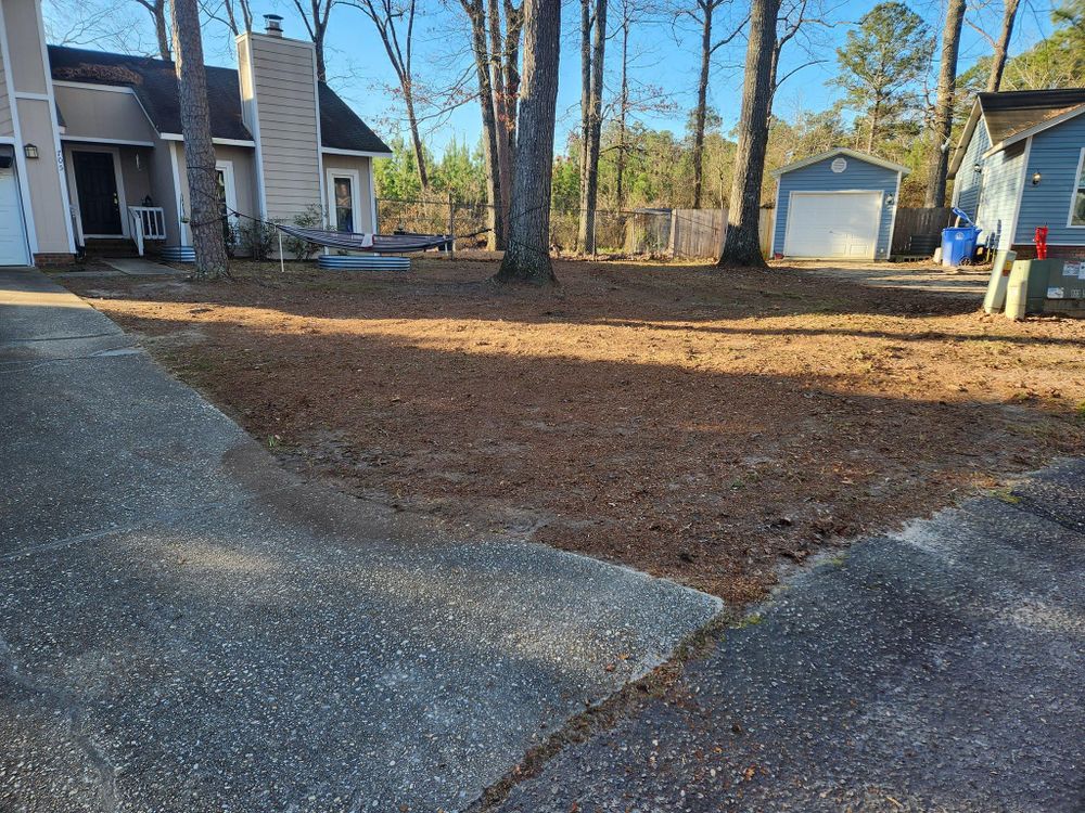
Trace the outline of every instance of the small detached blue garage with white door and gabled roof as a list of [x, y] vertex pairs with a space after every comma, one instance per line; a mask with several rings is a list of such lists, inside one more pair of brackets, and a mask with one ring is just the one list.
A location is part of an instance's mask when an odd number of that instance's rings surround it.
[[773, 255], [888, 260], [907, 167], [837, 147], [773, 172]]

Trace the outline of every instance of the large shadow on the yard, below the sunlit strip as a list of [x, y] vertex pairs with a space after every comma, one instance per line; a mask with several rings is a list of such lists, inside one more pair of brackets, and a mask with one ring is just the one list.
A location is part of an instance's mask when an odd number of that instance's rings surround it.
[[801, 562], [1082, 441], [1044, 410], [948, 399], [952, 380], [872, 393], [859, 374], [421, 347], [153, 305], [113, 314], [309, 475], [469, 535], [526, 513], [539, 541], [732, 602], [761, 595], [781, 556]]

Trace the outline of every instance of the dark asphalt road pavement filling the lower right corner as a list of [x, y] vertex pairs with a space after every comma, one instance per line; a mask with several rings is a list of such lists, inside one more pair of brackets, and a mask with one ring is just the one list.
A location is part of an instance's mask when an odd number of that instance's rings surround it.
[[803, 572], [498, 809], [1085, 811], [1085, 462]]

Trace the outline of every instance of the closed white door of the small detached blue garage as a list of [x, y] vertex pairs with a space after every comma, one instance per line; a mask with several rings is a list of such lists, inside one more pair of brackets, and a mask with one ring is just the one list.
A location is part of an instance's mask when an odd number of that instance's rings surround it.
[[789, 257], [875, 259], [881, 192], [793, 192], [783, 253]]

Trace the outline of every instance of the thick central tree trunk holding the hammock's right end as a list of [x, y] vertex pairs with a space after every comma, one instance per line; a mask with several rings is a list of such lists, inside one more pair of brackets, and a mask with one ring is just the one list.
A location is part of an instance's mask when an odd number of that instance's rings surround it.
[[513, 168], [509, 248], [496, 279], [552, 285], [550, 179], [558, 107], [561, 0], [524, 2], [524, 78]]

